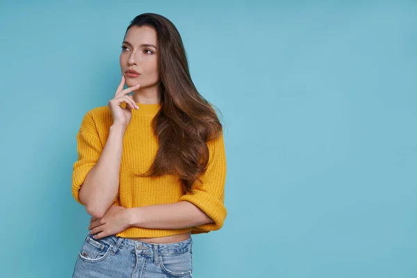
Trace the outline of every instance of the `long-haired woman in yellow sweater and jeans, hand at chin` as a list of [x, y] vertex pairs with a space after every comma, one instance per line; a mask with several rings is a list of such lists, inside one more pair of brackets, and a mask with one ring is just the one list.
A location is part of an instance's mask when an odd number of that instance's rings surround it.
[[222, 124], [167, 18], [133, 19], [120, 67], [115, 97], [76, 136], [72, 194], [92, 218], [73, 277], [192, 277], [191, 234], [227, 216]]

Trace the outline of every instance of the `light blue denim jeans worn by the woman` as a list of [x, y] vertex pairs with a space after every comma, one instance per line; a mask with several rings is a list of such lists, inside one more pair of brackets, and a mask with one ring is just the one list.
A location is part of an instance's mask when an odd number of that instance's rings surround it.
[[88, 234], [72, 277], [193, 277], [193, 239], [154, 244], [129, 238]]

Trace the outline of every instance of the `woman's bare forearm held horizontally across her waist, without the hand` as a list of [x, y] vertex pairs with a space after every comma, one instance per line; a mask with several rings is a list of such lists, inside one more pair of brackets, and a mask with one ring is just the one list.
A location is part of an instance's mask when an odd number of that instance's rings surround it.
[[147, 229], [182, 229], [213, 222], [206, 213], [186, 201], [128, 210], [129, 226]]

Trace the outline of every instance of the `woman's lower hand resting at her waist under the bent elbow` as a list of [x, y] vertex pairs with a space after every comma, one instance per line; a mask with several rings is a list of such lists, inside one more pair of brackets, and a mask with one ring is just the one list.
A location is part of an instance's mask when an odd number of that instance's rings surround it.
[[91, 218], [90, 234], [95, 239], [111, 236], [129, 228], [129, 213], [127, 208], [113, 204], [102, 218]]

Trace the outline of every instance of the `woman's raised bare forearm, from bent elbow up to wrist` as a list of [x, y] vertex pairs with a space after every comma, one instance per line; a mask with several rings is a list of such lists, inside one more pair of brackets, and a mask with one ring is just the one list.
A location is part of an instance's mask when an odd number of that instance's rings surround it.
[[99, 160], [88, 172], [81, 186], [80, 200], [88, 214], [95, 218], [103, 217], [119, 190], [124, 131], [126, 128], [121, 125], [114, 124], [110, 127]]

